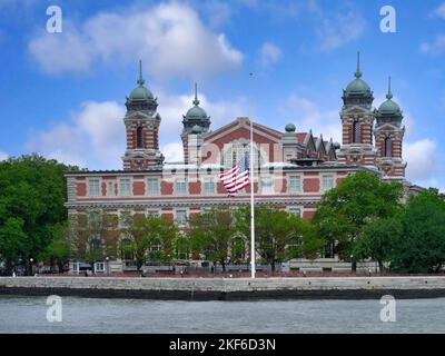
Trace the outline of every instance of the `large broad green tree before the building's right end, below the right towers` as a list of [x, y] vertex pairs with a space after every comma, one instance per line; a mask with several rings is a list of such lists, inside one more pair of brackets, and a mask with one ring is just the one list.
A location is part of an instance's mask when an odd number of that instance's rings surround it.
[[356, 270], [355, 243], [367, 224], [396, 214], [403, 186], [384, 182], [376, 175], [357, 172], [327, 191], [318, 204], [313, 222], [326, 244], [335, 244], [340, 258], [352, 260]]

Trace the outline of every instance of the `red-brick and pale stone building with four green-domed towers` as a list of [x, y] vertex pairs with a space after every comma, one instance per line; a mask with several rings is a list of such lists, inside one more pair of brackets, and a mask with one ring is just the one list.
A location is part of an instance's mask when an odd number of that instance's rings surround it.
[[[126, 101], [123, 169], [68, 172], [69, 215], [101, 209], [119, 220], [122, 214], [156, 214], [185, 227], [192, 215], [206, 209], [249, 204], [250, 187], [228, 198], [218, 179], [218, 174], [249, 152], [249, 118], [211, 128], [195, 88], [192, 107], [181, 120], [184, 161], [166, 162], [159, 149], [161, 108], [158, 112], [141, 68], [137, 85]], [[299, 132], [294, 123], [279, 131], [254, 122], [256, 202], [310, 219], [325, 191], [363, 170], [403, 181], [409, 189], [402, 159], [403, 113], [392, 98], [389, 85], [387, 100], [373, 107], [373, 91], [362, 79], [358, 58], [355, 78], [343, 91], [342, 144], [312, 130]]]

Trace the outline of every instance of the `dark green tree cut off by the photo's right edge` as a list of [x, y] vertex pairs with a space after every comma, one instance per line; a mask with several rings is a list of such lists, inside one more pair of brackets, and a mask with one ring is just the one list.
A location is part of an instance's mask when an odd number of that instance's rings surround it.
[[392, 260], [392, 269], [438, 271], [445, 264], [445, 201], [437, 190], [409, 198], [403, 228], [404, 235]]

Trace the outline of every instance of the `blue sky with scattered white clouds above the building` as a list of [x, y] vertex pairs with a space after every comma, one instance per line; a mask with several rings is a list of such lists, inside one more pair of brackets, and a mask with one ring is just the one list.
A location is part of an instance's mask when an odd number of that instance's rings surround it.
[[[61, 32], [47, 30], [50, 6]], [[384, 6], [395, 32], [380, 30]], [[0, 0], [0, 160], [38, 152], [120, 169], [139, 59], [167, 161], [181, 159], [195, 82], [212, 129], [248, 116], [340, 141], [342, 93], [360, 51], [375, 107], [392, 77], [407, 179], [445, 190], [443, 0]]]

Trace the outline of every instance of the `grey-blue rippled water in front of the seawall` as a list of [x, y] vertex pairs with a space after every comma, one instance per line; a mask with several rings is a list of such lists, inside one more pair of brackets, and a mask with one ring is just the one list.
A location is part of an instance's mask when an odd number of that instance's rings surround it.
[[397, 300], [159, 301], [62, 298], [47, 322], [43, 297], [0, 296], [0, 333], [445, 333], [445, 298]]

